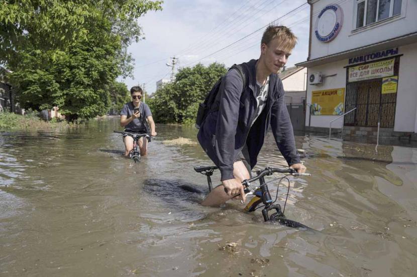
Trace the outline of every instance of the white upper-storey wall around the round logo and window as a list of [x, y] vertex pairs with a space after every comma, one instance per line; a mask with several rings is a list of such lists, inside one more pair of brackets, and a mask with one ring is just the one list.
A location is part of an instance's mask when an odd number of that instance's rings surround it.
[[[336, 1], [338, 3], [340, 1]], [[346, 0], [338, 5], [343, 10], [343, 24], [338, 36], [329, 43], [320, 42], [315, 35], [315, 24], [319, 13], [329, 4], [335, 1], [320, 0], [312, 5], [312, 29], [310, 60], [355, 49], [361, 46], [385, 41], [405, 34], [417, 31], [417, 1], [402, 0], [401, 15], [385, 20], [383, 23], [356, 29], [356, 0]], [[352, 57], [353, 58], [353, 57]]]

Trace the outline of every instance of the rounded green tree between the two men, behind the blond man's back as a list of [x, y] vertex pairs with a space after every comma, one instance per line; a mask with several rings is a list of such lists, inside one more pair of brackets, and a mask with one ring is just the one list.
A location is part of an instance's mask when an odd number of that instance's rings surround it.
[[160, 123], [194, 122], [198, 104], [226, 72], [225, 65], [219, 63], [180, 69], [175, 82], [156, 91], [148, 102], [155, 120]]

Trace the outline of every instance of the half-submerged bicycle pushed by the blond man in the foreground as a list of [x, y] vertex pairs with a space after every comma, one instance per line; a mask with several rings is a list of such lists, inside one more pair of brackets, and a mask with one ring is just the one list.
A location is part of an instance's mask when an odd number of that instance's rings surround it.
[[[194, 170], [198, 173], [201, 173], [203, 175], [205, 175], [207, 177], [207, 183], [209, 185], [209, 191], [212, 191], [213, 189], [213, 185], [212, 185], [212, 178], [211, 176], [213, 175], [213, 172], [218, 169], [217, 166], [195, 166]], [[272, 199], [270, 193], [269, 193], [269, 189], [268, 189], [268, 182], [265, 182], [265, 176], [268, 175], [272, 175], [273, 173], [287, 173], [288, 175], [292, 175], [292, 176], [311, 176], [311, 174], [308, 173], [298, 173], [296, 172], [295, 169], [292, 168], [288, 168], [288, 169], [280, 169], [280, 168], [271, 168], [271, 167], [266, 167], [263, 170], [258, 170], [256, 171], [256, 176], [249, 178], [247, 180], [244, 180], [242, 182], [242, 184], [245, 186], [244, 191], [245, 191], [245, 195], [254, 195], [254, 197], [249, 201], [249, 203], [245, 206], [245, 211], [246, 212], [253, 212], [255, 210], [257, 210], [258, 208], [262, 208], [262, 215], [264, 218], [264, 221], [275, 221], [275, 222], [279, 222], [282, 225], [286, 225], [288, 227], [302, 227], [302, 228], [307, 228], [310, 229], [309, 227], [287, 219], [284, 215], [284, 211], [285, 211], [285, 205], [288, 199], [288, 193], [285, 199], [285, 203], [284, 203], [284, 209], [281, 210], [281, 205], [280, 204], [274, 204], [278, 198], [278, 188], [277, 188], [277, 192], [276, 192], [276, 197], [275, 200]], [[283, 179], [286, 178], [286, 176], [284, 177], [280, 177], [278, 179]], [[251, 183], [255, 182], [259, 180], [259, 186], [255, 187], [255, 188], [251, 188]], [[272, 180], [274, 181], [274, 180]], [[278, 186], [279, 186], [279, 182], [278, 182]], [[227, 189], [225, 188], [225, 192], [227, 193]], [[289, 192], [289, 185], [288, 185], [288, 192]], [[239, 194], [240, 195], [240, 194]], [[238, 195], [236, 195], [238, 196]], [[236, 197], [235, 196], [235, 197]], [[259, 206], [260, 204], [263, 204], [261, 206]], [[269, 211], [271, 210], [275, 210], [274, 213], [272, 213], [269, 216]]]

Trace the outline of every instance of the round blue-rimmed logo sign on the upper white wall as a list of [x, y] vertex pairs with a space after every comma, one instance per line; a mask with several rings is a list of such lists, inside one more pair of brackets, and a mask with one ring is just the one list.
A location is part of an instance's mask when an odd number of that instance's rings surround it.
[[324, 43], [332, 41], [342, 28], [343, 13], [339, 5], [326, 6], [316, 20], [316, 38]]

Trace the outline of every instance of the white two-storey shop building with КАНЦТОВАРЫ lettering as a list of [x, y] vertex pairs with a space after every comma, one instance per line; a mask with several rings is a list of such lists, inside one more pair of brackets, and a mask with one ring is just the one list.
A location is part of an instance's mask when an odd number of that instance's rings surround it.
[[[417, 1], [309, 0], [306, 126], [354, 135], [417, 132]], [[346, 127], [350, 126], [350, 127]], [[326, 129], [324, 129], [326, 128]], [[384, 134], [382, 134], [384, 135]]]

